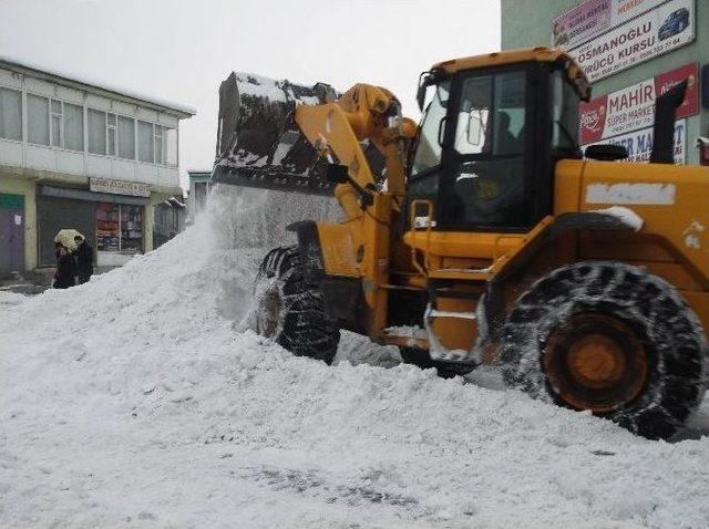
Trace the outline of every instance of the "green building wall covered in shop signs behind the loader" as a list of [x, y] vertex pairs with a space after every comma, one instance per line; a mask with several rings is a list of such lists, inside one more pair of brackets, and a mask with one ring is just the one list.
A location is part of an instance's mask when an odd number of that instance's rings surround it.
[[535, 45], [565, 49], [592, 81], [582, 145], [623, 145], [647, 162], [656, 96], [686, 79], [675, 160], [709, 162], [698, 147], [709, 136], [709, 1], [502, 0], [502, 48]]

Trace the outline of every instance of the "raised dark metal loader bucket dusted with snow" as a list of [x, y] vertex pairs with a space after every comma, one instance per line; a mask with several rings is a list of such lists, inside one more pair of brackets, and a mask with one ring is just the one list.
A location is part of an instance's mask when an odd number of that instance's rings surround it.
[[219, 87], [217, 153], [212, 180], [331, 195], [327, 162], [301, 134], [296, 106], [335, 101], [328, 84], [305, 86], [233, 72]]

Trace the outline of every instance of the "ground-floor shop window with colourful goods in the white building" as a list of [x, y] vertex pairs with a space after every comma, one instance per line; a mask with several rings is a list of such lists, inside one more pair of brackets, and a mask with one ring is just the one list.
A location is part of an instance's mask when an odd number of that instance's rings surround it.
[[143, 207], [101, 203], [96, 210], [96, 249], [143, 251]]

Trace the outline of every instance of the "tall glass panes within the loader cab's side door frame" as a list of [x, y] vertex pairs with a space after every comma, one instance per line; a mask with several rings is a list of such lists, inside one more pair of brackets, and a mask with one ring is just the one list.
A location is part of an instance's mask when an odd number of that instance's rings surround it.
[[461, 82], [445, 224], [518, 228], [530, 219], [526, 193], [526, 70], [475, 74]]

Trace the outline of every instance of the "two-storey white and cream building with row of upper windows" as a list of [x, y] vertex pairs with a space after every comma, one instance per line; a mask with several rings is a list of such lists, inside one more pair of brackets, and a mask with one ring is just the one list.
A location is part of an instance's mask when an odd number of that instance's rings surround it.
[[154, 247], [154, 206], [182, 196], [179, 121], [195, 114], [0, 59], [0, 273], [54, 266], [81, 231], [102, 267]]

